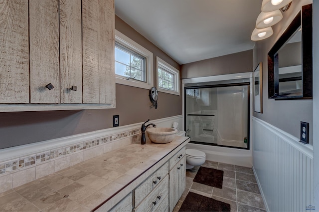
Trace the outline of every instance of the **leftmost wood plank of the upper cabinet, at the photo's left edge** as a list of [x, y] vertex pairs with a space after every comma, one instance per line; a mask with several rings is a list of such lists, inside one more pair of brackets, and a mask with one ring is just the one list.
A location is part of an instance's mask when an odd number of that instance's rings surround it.
[[0, 0], [0, 103], [28, 102], [28, 1]]

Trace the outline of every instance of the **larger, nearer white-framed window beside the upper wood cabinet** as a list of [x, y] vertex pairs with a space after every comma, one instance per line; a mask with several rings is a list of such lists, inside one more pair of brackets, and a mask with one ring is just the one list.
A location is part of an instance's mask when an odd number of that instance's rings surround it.
[[115, 30], [116, 83], [150, 89], [154, 86], [153, 53]]

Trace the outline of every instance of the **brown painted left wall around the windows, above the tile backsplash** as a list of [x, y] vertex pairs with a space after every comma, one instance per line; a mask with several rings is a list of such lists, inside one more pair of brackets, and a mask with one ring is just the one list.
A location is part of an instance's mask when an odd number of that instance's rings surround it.
[[[115, 17], [115, 28], [180, 70], [179, 64], [132, 27]], [[156, 83], [154, 74], [154, 82]], [[149, 90], [116, 84], [116, 109], [0, 113], [0, 149], [113, 127], [181, 115], [181, 96], [159, 92], [158, 109], [150, 108]]]

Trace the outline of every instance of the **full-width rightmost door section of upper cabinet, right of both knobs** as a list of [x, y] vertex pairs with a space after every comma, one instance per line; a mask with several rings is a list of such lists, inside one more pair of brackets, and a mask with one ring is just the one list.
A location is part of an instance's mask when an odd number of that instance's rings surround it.
[[83, 103], [115, 104], [114, 0], [82, 0]]

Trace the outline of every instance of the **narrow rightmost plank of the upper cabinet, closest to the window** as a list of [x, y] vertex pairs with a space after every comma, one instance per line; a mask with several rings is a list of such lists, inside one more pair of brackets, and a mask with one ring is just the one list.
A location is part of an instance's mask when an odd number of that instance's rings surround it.
[[115, 104], [115, 15], [114, 0], [98, 0], [99, 2], [99, 71], [100, 103]]

